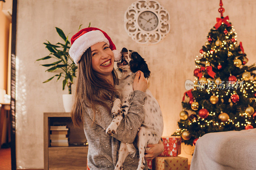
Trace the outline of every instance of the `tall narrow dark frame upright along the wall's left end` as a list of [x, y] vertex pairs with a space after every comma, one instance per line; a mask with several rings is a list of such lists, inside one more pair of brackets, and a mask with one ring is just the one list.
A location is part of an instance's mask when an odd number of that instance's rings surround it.
[[12, 45], [11, 45], [11, 164], [12, 170], [16, 170], [16, 120], [15, 120], [15, 61], [16, 61], [16, 22], [17, 21], [17, 0], [12, 0]]

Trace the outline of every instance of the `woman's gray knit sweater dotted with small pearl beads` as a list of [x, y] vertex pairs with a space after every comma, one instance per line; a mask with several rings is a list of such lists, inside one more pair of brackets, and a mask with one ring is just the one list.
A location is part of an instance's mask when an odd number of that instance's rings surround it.
[[[87, 113], [84, 115], [84, 133], [89, 144], [87, 163], [91, 170], [114, 169], [118, 160], [120, 141], [124, 143], [134, 141], [145, 116], [142, 105], [146, 94], [140, 90], [135, 90], [131, 94], [131, 107], [118, 126], [117, 133], [113, 136], [108, 136], [105, 133], [105, 129], [113, 120], [106, 108], [98, 107], [100, 113], [96, 113], [95, 121], [92, 124], [92, 109], [84, 107]], [[111, 102], [108, 104], [113, 106]], [[139, 157], [132, 158], [128, 155], [124, 161], [124, 170], [137, 169], [138, 162]], [[147, 161], [144, 170], [148, 170]]]

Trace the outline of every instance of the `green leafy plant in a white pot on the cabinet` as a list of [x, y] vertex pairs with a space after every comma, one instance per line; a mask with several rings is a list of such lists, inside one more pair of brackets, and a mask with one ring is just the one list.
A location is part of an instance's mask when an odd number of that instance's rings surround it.
[[[80, 29], [81, 25], [79, 26]], [[90, 27], [90, 24], [89, 24]], [[76, 77], [76, 69], [77, 66], [74, 63], [73, 59], [69, 56], [68, 50], [71, 46], [70, 42], [68, 41], [68, 36], [63, 33], [63, 31], [55, 27], [57, 33], [60, 35], [60, 37], [65, 41], [64, 43], [56, 43], [52, 44], [49, 41], [47, 43], [44, 43], [46, 48], [50, 51], [50, 54], [46, 57], [40, 58], [36, 61], [39, 60], [46, 60], [49, 58], [55, 58], [57, 61], [50, 63], [50, 64], [40, 64], [44, 67], [50, 67], [48, 72], [54, 72], [56, 70], [61, 70], [59, 74], [56, 74], [55, 76], [49, 78], [48, 80], [44, 81], [43, 83], [46, 83], [50, 80], [52, 80], [54, 77], [57, 77], [57, 81], [63, 77], [62, 81], [62, 90], [65, 89], [65, 86], [68, 86], [68, 94], [62, 94], [62, 99], [63, 99], [63, 105], [65, 112], [70, 112], [71, 107], [73, 104], [73, 94], [71, 94], [71, 85], [73, 84], [74, 77]], [[79, 30], [78, 29], [78, 30]], [[45, 72], [46, 72], [45, 71]]]

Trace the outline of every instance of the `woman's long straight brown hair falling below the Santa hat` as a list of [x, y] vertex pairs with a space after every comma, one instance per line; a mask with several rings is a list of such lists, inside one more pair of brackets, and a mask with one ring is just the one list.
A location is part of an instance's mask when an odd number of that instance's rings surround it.
[[[114, 79], [114, 85], [118, 85], [119, 82], [116, 70], [113, 69], [111, 73]], [[96, 105], [102, 105], [110, 112], [111, 108], [106, 102], [112, 102], [113, 96], [119, 94], [106, 78], [101, 77], [92, 70], [91, 48], [88, 48], [82, 55], [78, 63], [76, 75], [74, 103], [70, 115], [74, 126], [79, 128], [80, 124], [84, 121], [84, 114], [86, 114], [84, 113], [84, 104], [86, 107], [92, 108], [94, 122], [97, 116], [95, 114], [97, 110]]]

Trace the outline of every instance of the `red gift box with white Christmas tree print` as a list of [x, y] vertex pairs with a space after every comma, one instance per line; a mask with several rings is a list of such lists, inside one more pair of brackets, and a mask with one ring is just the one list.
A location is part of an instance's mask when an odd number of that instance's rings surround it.
[[170, 136], [162, 137], [164, 144], [164, 152], [159, 156], [178, 156], [181, 150], [181, 137]]

